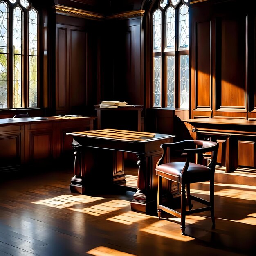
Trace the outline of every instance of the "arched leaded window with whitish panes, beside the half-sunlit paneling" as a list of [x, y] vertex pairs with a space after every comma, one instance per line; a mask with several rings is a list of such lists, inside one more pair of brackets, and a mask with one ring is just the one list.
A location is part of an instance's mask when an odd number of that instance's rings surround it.
[[152, 106], [189, 108], [188, 0], [160, 0], [152, 12]]

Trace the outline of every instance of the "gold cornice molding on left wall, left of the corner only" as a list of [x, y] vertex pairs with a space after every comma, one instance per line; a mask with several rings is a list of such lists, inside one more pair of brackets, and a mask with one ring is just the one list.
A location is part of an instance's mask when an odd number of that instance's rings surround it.
[[55, 11], [58, 14], [69, 15], [69, 16], [80, 17], [80, 18], [90, 18], [94, 20], [101, 20], [105, 18], [104, 15], [99, 13], [83, 11], [80, 9], [66, 7], [63, 5], [55, 5]]

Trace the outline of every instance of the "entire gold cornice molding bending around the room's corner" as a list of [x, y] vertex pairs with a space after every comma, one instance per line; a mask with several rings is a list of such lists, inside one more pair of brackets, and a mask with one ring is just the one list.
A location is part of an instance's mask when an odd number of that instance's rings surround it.
[[73, 17], [80, 17], [80, 18], [89, 18], [94, 20], [103, 20], [103, 19], [121, 19], [121, 18], [131, 18], [131, 17], [139, 17], [144, 16], [144, 10], [138, 11], [128, 11], [123, 13], [118, 13], [110, 16], [104, 16], [103, 14], [93, 13], [90, 11], [83, 11], [81, 9], [75, 9], [63, 5], [55, 5], [55, 11], [57, 14], [69, 15]]

